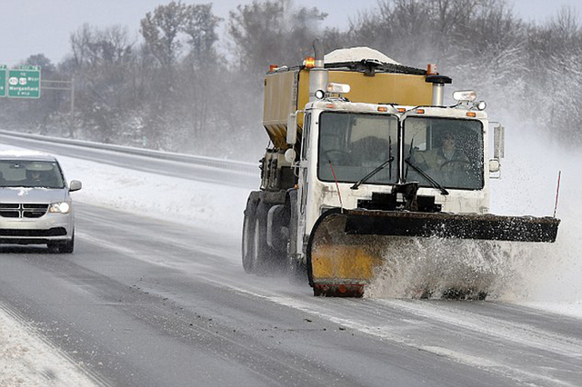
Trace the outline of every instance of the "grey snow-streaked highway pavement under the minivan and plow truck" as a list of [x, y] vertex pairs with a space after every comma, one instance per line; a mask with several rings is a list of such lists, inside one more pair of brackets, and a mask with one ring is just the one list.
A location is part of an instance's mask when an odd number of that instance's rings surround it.
[[[49, 151], [80, 152], [68, 148]], [[167, 174], [137, 159], [115, 164]], [[196, 180], [195, 169], [173, 174]], [[246, 275], [236, 233], [91, 203], [77, 203], [76, 230], [74, 254], [0, 245], [0, 304], [96, 384], [582, 385], [576, 318], [491, 301], [313, 297], [306, 284]]]

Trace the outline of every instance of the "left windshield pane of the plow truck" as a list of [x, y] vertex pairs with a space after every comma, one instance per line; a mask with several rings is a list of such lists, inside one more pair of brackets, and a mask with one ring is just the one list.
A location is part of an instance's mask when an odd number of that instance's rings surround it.
[[[397, 181], [397, 120], [386, 114], [324, 112], [319, 116], [317, 176], [324, 182], [356, 183], [380, 164], [366, 184]], [[332, 172], [333, 169], [333, 172]]]

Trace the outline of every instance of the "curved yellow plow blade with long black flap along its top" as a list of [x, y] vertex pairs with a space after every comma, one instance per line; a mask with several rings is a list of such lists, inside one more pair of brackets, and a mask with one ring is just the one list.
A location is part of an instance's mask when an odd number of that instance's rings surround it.
[[361, 296], [391, 236], [555, 242], [559, 220], [493, 214], [340, 210], [323, 213], [307, 243], [309, 283], [316, 295]]

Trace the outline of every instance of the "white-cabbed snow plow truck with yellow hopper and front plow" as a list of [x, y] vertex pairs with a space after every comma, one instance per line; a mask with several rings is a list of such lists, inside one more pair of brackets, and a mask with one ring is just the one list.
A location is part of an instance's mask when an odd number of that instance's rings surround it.
[[400, 65], [367, 47], [314, 49], [302, 65], [266, 73], [270, 144], [246, 203], [246, 273], [284, 268], [315, 295], [360, 297], [386, 246], [403, 238], [555, 242], [554, 217], [488, 213], [503, 127], [489, 124], [475, 92], [446, 106], [452, 81], [434, 65]]

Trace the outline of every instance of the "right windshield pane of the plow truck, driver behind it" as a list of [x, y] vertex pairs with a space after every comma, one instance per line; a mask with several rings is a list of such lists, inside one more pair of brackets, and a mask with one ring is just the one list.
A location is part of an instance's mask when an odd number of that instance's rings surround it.
[[403, 128], [406, 182], [433, 187], [436, 182], [447, 188], [467, 190], [483, 188], [483, 124], [480, 121], [408, 117]]

